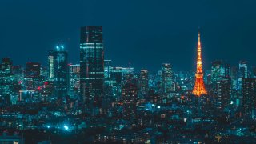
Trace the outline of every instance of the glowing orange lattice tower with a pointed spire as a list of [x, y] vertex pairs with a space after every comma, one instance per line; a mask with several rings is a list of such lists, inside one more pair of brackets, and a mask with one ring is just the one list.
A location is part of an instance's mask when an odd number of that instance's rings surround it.
[[197, 73], [195, 74], [195, 84], [194, 84], [193, 94], [197, 95], [197, 96], [200, 96], [201, 94], [207, 94], [206, 87], [203, 82], [201, 42], [200, 42], [200, 31], [199, 30], [198, 30]]

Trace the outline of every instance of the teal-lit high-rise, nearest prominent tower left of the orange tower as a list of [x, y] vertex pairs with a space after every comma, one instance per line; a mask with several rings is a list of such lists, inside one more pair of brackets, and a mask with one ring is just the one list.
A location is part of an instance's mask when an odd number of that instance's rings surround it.
[[162, 64], [161, 77], [162, 77], [162, 93], [168, 93], [172, 91], [173, 79], [172, 79], [172, 70], [170, 67], [170, 63]]

